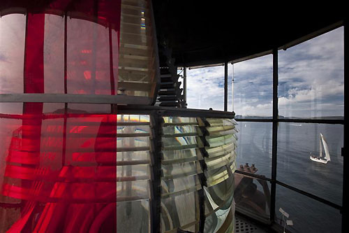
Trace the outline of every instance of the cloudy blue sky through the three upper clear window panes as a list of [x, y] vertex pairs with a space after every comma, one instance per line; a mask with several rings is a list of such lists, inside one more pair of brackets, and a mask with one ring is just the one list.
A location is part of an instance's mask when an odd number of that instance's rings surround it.
[[[279, 115], [288, 118], [343, 116], [343, 27], [287, 50], [279, 50]], [[228, 111], [272, 116], [272, 55], [228, 66]], [[187, 71], [188, 108], [223, 111], [224, 67]]]

